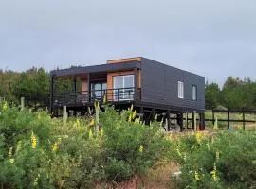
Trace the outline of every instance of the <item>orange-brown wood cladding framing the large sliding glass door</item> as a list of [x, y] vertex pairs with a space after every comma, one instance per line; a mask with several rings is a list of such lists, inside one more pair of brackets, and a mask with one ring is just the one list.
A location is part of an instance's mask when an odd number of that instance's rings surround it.
[[[134, 70], [107, 73], [107, 89], [113, 89], [114, 88], [113, 77], [133, 75], [133, 74], [135, 74]], [[137, 87], [139, 87], [139, 88], [141, 87], [141, 72], [140, 72], [140, 70], [137, 70]], [[110, 91], [110, 93], [111, 92], [112, 91]], [[109, 101], [111, 101], [113, 99], [113, 94], [108, 94], [107, 99]]]

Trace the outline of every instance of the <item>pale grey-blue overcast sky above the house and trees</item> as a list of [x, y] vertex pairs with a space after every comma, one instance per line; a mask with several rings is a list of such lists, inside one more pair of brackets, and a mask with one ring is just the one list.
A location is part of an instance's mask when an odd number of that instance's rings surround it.
[[256, 79], [255, 0], [0, 0], [0, 69], [141, 56], [222, 84]]

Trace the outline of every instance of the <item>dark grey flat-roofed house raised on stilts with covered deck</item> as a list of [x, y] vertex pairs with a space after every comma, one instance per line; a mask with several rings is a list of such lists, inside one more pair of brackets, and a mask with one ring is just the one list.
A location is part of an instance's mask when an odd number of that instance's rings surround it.
[[[59, 79], [69, 79], [72, 90], [58, 94], [55, 82]], [[157, 113], [159, 119], [167, 118], [168, 129], [172, 129], [172, 120], [183, 126], [184, 113], [199, 113], [204, 129], [205, 78], [155, 60], [137, 57], [54, 70], [50, 88], [50, 107], [56, 116], [63, 106], [83, 114], [105, 98], [119, 109], [133, 104], [146, 124]]]

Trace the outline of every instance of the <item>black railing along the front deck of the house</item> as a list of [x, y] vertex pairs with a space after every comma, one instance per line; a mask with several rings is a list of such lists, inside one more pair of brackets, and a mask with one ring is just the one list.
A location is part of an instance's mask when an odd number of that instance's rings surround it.
[[141, 99], [141, 89], [130, 88], [118, 88], [118, 89], [106, 89], [106, 90], [93, 90], [80, 91], [76, 93], [68, 92], [63, 94], [53, 94], [54, 105], [81, 105], [86, 103], [92, 103], [95, 101], [103, 102], [123, 102]]

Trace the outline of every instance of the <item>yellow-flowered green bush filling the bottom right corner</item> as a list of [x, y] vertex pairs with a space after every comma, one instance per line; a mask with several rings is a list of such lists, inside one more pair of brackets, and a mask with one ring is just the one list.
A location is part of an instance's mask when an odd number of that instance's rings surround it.
[[[181, 139], [175, 158], [181, 164], [180, 188], [255, 188], [256, 135], [220, 132]], [[184, 155], [186, 154], [186, 160]], [[178, 158], [179, 157], [179, 158]]]

